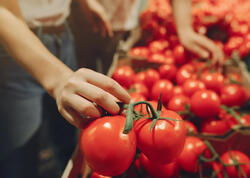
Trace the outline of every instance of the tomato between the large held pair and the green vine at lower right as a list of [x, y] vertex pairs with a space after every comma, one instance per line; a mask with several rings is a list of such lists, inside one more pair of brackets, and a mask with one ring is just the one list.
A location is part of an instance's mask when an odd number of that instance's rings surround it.
[[187, 137], [184, 149], [178, 157], [178, 165], [187, 172], [198, 172], [198, 157], [207, 148], [206, 144], [197, 137]]

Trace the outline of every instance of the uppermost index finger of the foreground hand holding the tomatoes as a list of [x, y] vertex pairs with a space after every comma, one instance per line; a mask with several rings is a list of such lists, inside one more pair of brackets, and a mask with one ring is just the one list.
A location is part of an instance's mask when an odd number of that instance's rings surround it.
[[86, 72], [85, 79], [88, 83], [102, 88], [126, 104], [129, 103], [130, 96], [128, 92], [115, 80], [92, 70], [85, 70], [84, 72]]

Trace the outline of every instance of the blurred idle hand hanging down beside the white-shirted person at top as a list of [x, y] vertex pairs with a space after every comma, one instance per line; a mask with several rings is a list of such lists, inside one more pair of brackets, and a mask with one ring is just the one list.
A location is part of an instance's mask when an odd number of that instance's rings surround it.
[[106, 34], [108, 34], [109, 37], [113, 36], [111, 23], [108, 20], [105, 9], [98, 1], [81, 0], [80, 5], [94, 26], [94, 31], [100, 31], [102, 36], [106, 36]]

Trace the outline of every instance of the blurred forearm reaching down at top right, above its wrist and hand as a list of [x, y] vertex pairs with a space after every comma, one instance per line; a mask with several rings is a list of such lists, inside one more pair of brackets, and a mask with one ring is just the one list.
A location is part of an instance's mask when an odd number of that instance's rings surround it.
[[191, 0], [171, 0], [178, 34], [192, 29]]

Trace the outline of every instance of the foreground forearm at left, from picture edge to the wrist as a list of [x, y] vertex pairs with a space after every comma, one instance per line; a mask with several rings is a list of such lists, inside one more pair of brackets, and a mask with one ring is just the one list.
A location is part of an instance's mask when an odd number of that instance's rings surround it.
[[53, 96], [58, 79], [72, 71], [45, 48], [23, 21], [1, 7], [0, 24], [1, 44]]

